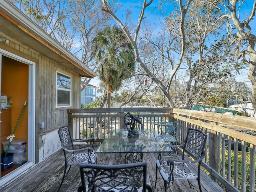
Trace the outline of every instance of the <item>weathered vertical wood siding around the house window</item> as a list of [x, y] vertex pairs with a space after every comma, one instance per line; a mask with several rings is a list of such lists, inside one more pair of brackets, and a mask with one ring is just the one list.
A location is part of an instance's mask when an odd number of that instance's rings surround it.
[[[71, 76], [72, 88], [71, 88], [71, 107], [80, 108], [80, 76], [75, 74], [66, 68], [63, 68], [58, 64], [58, 61], [54, 62], [44, 56], [42, 53], [36, 50], [31, 50], [25, 45], [20, 45], [10, 41], [10, 47], [19, 50], [20, 56], [26, 57], [26, 55], [38, 59], [36, 64], [36, 122], [44, 122], [45, 128], [43, 131], [50, 131], [54, 128], [58, 128], [65, 124], [68, 124], [68, 108], [56, 108], [56, 70], [64, 72], [68, 76]], [[36, 129], [38, 128], [36, 123]]]

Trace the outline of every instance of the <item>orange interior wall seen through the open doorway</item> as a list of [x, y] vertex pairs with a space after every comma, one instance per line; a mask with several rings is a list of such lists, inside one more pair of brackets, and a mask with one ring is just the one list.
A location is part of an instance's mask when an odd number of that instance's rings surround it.
[[7, 136], [12, 135], [18, 118], [24, 106], [19, 124], [16, 128], [14, 139], [28, 140], [28, 65], [2, 57], [2, 80], [1, 94], [7, 95], [12, 100], [10, 109], [1, 110], [1, 153], [3, 152], [2, 142]]

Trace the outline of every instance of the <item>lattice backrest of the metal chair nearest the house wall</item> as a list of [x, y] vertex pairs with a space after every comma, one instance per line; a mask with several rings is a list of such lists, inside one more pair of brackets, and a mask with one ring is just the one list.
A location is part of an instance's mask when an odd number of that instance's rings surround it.
[[60, 136], [60, 144], [63, 149], [68, 149], [70, 146], [72, 146], [72, 149], [74, 149], [74, 144], [70, 135], [70, 130], [67, 126], [61, 127], [58, 130], [59, 136]]

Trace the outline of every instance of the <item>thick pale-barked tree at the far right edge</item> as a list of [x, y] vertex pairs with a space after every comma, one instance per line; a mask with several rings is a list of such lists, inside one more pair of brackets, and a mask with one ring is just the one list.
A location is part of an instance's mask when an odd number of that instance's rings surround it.
[[[248, 4], [252, 4], [251, 9], [248, 9]], [[248, 63], [248, 78], [252, 83], [251, 100], [254, 110], [256, 111], [256, 35], [253, 34], [251, 26], [255, 20], [256, 1], [229, 0], [224, 1], [224, 6], [227, 8], [226, 14], [222, 18], [227, 20], [228, 38], [231, 44], [235, 45], [236, 57]], [[240, 14], [242, 7], [247, 8], [248, 14]]]

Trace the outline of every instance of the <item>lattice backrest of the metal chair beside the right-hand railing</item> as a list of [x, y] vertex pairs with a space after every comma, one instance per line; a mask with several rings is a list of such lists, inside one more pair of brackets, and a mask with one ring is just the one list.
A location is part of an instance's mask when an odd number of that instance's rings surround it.
[[188, 129], [188, 134], [184, 144], [184, 152], [186, 151], [192, 158], [199, 159], [204, 153], [205, 144], [207, 141], [207, 135], [198, 129]]

